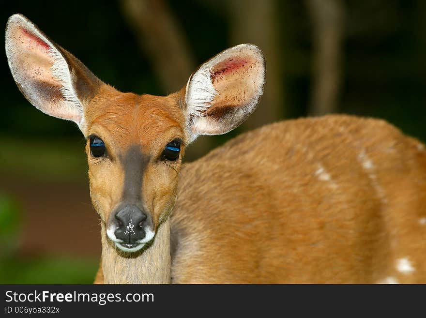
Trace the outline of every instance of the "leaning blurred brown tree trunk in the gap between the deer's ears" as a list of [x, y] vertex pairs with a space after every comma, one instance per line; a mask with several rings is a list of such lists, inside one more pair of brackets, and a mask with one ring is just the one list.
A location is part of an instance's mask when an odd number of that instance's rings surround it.
[[[180, 90], [195, 71], [195, 62], [181, 27], [163, 0], [122, 0], [122, 13], [141, 49], [152, 61], [167, 94]], [[210, 138], [198, 138], [188, 147], [192, 161], [212, 148]]]

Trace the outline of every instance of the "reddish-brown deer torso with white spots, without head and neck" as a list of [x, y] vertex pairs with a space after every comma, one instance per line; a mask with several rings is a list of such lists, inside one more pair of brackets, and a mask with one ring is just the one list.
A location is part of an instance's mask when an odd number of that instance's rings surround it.
[[176, 283], [425, 283], [426, 151], [379, 120], [268, 125], [184, 165], [171, 232]]

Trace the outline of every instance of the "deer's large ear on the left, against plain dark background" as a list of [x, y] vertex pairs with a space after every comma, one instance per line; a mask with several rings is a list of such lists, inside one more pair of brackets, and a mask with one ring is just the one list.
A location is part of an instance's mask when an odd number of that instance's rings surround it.
[[103, 83], [24, 15], [7, 21], [6, 55], [28, 101], [48, 115], [75, 121], [84, 133], [83, 107]]

